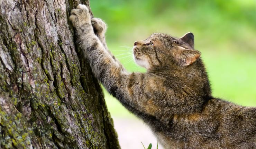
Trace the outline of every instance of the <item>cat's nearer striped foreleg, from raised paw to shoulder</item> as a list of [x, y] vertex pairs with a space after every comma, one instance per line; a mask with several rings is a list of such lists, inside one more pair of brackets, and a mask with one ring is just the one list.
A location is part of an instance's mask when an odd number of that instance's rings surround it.
[[[77, 41], [88, 57], [92, 72], [101, 81], [107, 91], [116, 96], [128, 109], [144, 111], [152, 109], [152, 101], [147, 97], [153, 96], [147, 91], [147, 78], [141, 73], [128, 73], [124, 67], [113, 58], [103, 43], [104, 33], [95, 35], [89, 10], [84, 5], [77, 6], [71, 11], [70, 20], [76, 30]], [[152, 84], [150, 84], [152, 85]], [[149, 95], [150, 94], [150, 95]]]

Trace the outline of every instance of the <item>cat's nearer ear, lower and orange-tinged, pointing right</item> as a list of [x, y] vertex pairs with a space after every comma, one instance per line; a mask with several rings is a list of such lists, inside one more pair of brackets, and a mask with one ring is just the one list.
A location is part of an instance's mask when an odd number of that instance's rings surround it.
[[201, 55], [197, 50], [185, 49], [178, 46], [173, 50], [175, 60], [182, 66], [188, 66], [194, 63]]

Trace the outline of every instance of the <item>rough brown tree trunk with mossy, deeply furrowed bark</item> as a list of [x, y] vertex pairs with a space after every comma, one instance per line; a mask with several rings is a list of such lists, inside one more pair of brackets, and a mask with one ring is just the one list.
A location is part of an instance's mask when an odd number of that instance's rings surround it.
[[99, 82], [74, 44], [89, 0], [0, 0], [0, 148], [119, 149]]

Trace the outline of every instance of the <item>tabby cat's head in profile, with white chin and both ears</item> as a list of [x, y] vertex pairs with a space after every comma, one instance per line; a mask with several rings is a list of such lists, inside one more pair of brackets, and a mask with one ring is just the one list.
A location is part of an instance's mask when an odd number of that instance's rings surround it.
[[135, 62], [147, 69], [161, 66], [185, 67], [193, 64], [201, 55], [194, 50], [194, 35], [187, 33], [181, 38], [154, 33], [147, 39], [136, 41], [133, 47]]

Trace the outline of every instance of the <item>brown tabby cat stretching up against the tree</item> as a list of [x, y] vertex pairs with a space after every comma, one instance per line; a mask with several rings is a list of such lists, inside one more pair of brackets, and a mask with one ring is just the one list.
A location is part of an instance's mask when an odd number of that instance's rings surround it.
[[129, 73], [108, 50], [106, 24], [85, 5], [71, 11], [77, 43], [107, 91], [141, 118], [165, 149], [255, 149], [256, 108], [211, 95], [194, 35], [154, 33], [133, 47], [146, 73]]

